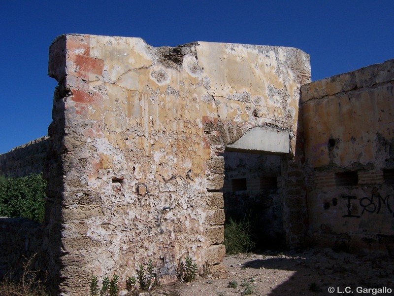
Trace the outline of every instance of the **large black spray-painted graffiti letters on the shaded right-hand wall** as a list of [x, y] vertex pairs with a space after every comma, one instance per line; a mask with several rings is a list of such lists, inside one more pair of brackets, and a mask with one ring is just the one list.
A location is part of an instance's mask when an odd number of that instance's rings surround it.
[[[343, 215], [342, 217], [344, 218], [360, 218], [361, 216], [359, 215], [354, 215], [352, 214], [352, 204], [351, 200], [357, 199], [356, 196], [342, 196], [342, 198], [346, 198], [348, 200], [347, 208], [348, 208], [348, 213], [346, 215]], [[392, 201], [390, 201], [392, 200]], [[394, 213], [392, 210], [392, 205], [394, 205], [394, 196], [391, 196], [390, 194], [386, 195], [385, 198], [383, 198], [378, 190], [375, 188], [372, 190], [372, 195], [370, 198], [368, 197], [363, 197], [360, 199], [360, 206], [362, 208], [361, 215], [363, 215], [365, 212], [368, 213], [376, 213], [379, 214], [380, 210], [382, 208], [387, 208], [389, 210], [390, 214]]]

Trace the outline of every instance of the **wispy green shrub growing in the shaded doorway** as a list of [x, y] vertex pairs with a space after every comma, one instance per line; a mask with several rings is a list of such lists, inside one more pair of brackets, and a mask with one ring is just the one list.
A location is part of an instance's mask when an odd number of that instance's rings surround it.
[[225, 223], [224, 235], [227, 254], [244, 253], [255, 247], [255, 243], [250, 239], [249, 219], [236, 222], [230, 218]]

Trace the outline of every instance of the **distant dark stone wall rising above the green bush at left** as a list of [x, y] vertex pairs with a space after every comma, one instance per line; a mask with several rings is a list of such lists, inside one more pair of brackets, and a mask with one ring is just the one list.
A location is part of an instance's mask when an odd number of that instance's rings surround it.
[[48, 146], [48, 137], [42, 137], [0, 154], [0, 175], [17, 178], [42, 173]]

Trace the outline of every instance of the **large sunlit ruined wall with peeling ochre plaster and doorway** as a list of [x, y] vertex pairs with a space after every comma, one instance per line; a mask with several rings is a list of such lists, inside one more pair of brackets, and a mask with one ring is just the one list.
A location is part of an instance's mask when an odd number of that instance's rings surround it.
[[186, 256], [222, 261], [219, 153], [259, 127], [285, 135], [293, 161], [310, 67], [296, 48], [66, 35], [49, 75], [59, 86], [43, 256], [57, 292], [85, 295], [92, 273], [124, 281], [148, 259], [162, 283]]

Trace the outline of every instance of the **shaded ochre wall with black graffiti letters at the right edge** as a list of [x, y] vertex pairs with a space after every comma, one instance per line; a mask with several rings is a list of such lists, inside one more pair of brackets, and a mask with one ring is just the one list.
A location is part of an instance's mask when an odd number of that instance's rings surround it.
[[301, 87], [310, 235], [394, 254], [394, 60]]

